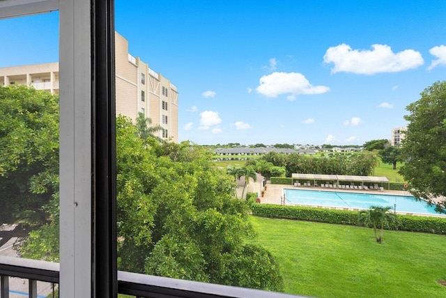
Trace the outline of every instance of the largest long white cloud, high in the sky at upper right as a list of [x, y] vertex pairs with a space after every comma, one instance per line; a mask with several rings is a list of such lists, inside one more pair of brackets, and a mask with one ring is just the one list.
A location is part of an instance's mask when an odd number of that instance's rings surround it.
[[345, 43], [329, 47], [323, 61], [334, 64], [332, 73], [346, 72], [361, 75], [397, 73], [417, 68], [424, 63], [420, 52], [415, 50], [403, 50], [395, 54], [388, 45], [371, 47], [372, 50], [353, 50]]

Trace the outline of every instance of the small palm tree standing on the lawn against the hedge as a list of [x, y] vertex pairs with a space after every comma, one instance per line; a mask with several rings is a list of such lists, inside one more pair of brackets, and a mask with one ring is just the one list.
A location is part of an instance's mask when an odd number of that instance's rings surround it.
[[[371, 206], [367, 211], [360, 211], [359, 222], [366, 226], [373, 226], [376, 242], [378, 243], [383, 241], [384, 228], [389, 227], [391, 223], [397, 222], [397, 215], [390, 213], [390, 209], [392, 207]], [[379, 235], [378, 228], [380, 229]]]

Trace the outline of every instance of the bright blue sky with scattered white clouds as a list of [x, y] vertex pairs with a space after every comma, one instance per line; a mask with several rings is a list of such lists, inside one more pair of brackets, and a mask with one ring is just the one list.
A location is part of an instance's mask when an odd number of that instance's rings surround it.
[[[58, 17], [1, 20], [0, 67], [57, 61]], [[179, 141], [389, 139], [446, 80], [443, 0], [116, 0], [115, 18], [130, 54], [176, 85]]]

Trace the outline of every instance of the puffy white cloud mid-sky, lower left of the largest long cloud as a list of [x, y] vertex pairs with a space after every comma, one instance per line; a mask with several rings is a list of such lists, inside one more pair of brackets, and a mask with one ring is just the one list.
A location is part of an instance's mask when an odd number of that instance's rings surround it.
[[294, 100], [298, 94], [322, 94], [330, 91], [325, 86], [313, 86], [302, 73], [271, 73], [260, 78], [256, 88], [259, 94], [277, 97], [280, 94], [291, 94], [289, 100]]

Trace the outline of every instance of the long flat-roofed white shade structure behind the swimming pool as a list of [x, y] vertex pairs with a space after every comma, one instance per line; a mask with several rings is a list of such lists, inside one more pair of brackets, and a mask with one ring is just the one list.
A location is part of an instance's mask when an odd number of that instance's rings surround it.
[[353, 176], [353, 175], [334, 175], [334, 174], [300, 174], [293, 173], [291, 178], [294, 180], [313, 180], [313, 185], [316, 181], [336, 181], [339, 185], [339, 181], [351, 181], [360, 182], [364, 186], [366, 183], [387, 183], [387, 189], [390, 189], [390, 181], [387, 177], [376, 177], [376, 176]]

